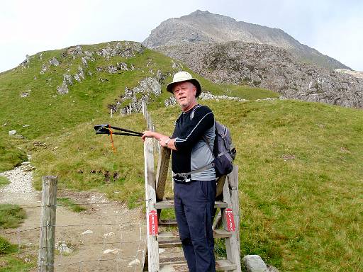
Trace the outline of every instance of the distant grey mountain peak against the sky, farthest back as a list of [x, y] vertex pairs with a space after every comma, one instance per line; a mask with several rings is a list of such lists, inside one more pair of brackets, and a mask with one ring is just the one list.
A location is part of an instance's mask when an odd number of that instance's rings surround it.
[[[227, 42], [240, 40], [274, 45], [289, 50], [301, 61], [326, 69], [350, 69], [345, 64], [303, 45], [284, 30], [236, 21], [234, 18], [209, 11], [194, 11], [180, 18], [169, 18], [160, 23], [143, 41], [146, 47], [179, 45], [180, 43]], [[351, 70], [351, 69], [350, 69]]]

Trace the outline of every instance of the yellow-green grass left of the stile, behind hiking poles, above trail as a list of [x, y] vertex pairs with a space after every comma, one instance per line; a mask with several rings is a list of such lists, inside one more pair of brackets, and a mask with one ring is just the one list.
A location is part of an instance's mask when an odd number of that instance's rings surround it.
[[41, 176], [57, 174], [58, 188], [76, 191], [96, 188], [109, 198], [127, 201], [130, 207], [140, 205], [140, 200], [145, 198], [143, 141], [140, 137], [114, 135], [114, 153], [108, 135], [96, 135], [94, 132], [94, 125], [100, 123], [135, 131], [145, 130], [143, 116], [136, 114], [123, 118], [115, 116], [112, 120], [94, 120], [65, 134], [38, 138], [45, 145], [28, 147], [32, 149], [32, 162], [37, 168], [35, 188], [41, 188]]

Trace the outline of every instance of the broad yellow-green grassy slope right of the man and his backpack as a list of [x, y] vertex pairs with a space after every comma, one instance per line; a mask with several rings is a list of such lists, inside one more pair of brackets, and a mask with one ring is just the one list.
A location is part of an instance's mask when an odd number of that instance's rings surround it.
[[[259, 254], [282, 271], [362, 270], [363, 112], [300, 101], [205, 104], [238, 149], [242, 256]], [[152, 120], [170, 134], [178, 111], [162, 108]]]

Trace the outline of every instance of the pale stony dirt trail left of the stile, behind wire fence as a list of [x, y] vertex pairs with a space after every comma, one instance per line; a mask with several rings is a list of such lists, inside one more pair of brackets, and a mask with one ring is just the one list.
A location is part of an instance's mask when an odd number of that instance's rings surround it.
[[[40, 229], [40, 192], [31, 187], [31, 172], [20, 166], [0, 173], [11, 183], [0, 189], [0, 203], [13, 203], [25, 208], [27, 219], [19, 229], [30, 231], [4, 234], [13, 244], [21, 244], [25, 259], [28, 254], [38, 256]], [[57, 207], [56, 238], [61, 254], [56, 250], [55, 271], [142, 271], [145, 245], [145, 220], [140, 208], [128, 210], [125, 205], [111, 203], [101, 193], [60, 191], [57, 196], [72, 198], [76, 203], [89, 203], [84, 212], [72, 212]], [[17, 229], [2, 229], [16, 232]], [[37, 271], [34, 269], [34, 271]]]

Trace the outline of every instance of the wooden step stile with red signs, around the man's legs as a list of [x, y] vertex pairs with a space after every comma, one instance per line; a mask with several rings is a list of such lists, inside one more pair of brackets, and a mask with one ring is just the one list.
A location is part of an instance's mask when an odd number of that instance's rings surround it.
[[[151, 119], [147, 116], [145, 108], [145, 118], [148, 123]], [[173, 200], [164, 199], [164, 189], [167, 180], [167, 171], [169, 168], [170, 149], [160, 147], [160, 154], [157, 164], [157, 174], [155, 179], [154, 157], [152, 139], [146, 138], [144, 145], [145, 156], [145, 194], [147, 199], [147, 248], [144, 250], [145, 259], [143, 271], [152, 272], [172, 272], [172, 271], [188, 271], [186, 261], [182, 256], [169, 257], [169, 259], [160, 258], [159, 248], [175, 249], [181, 246], [179, 234], [174, 230], [172, 232], [159, 232], [157, 236], [149, 235], [149, 212], [157, 210], [158, 220], [161, 226], [176, 226], [175, 220], [160, 219], [160, 211], [162, 209], [174, 208]], [[227, 182], [225, 182], [227, 181]], [[213, 236], [215, 238], [225, 239], [225, 247], [227, 250], [227, 259], [216, 261], [216, 271], [233, 271], [240, 272], [240, 239], [239, 239], [239, 204], [238, 204], [238, 167], [235, 166], [232, 173], [222, 177], [218, 182], [218, 193], [220, 199], [216, 201], [215, 208], [220, 208], [220, 217], [223, 222], [224, 229], [214, 229]], [[225, 220], [225, 210], [230, 208], [233, 210], [235, 217], [235, 232], [228, 232]], [[218, 224], [217, 224], [218, 225]], [[215, 227], [217, 226], [215, 225]]]

